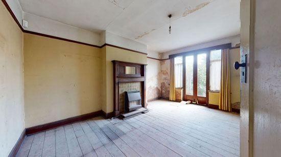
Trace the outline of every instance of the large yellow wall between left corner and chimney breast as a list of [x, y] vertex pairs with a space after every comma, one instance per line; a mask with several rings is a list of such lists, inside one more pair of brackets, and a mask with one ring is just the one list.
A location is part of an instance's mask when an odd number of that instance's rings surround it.
[[101, 110], [101, 49], [24, 34], [26, 127]]

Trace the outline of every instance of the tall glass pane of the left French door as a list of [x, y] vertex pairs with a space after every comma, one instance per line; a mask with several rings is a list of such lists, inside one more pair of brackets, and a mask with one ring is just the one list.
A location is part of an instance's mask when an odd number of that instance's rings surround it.
[[193, 55], [185, 57], [185, 94], [193, 95]]

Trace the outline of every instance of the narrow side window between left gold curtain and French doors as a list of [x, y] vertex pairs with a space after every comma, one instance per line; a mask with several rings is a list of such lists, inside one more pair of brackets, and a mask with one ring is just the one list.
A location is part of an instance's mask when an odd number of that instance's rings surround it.
[[182, 56], [175, 57], [175, 86], [182, 88]]

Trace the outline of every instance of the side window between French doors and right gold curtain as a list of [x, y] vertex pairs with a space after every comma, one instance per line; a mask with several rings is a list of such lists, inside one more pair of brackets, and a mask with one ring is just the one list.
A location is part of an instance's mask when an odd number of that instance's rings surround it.
[[220, 90], [221, 50], [210, 51], [210, 90]]

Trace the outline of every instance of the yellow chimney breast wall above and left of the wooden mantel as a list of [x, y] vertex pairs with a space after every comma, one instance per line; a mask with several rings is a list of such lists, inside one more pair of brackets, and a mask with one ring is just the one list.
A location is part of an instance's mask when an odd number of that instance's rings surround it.
[[[102, 104], [104, 112], [109, 113], [113, 111], [113, 63], [112, 60], [136, 62], [140, 64], [147, 64], [147, 55], [141, 53], [134, 53], [131, 51], [105, 46], [106, 47], [106, 75], [103, 75], [103, 81], [106, 80], [106, 104]], [[104, 53], [104, 52], [102, 52]], [[104, 63], [103, 63], [104, 64]], [[104, 73], [104, 71], [103, 71]], [[104, 88], [104, 87], [103, 87]], [[105, 107], [106, 105], [106, 107]]]

